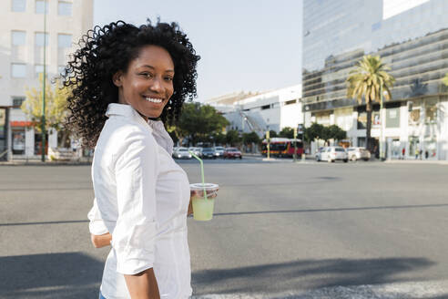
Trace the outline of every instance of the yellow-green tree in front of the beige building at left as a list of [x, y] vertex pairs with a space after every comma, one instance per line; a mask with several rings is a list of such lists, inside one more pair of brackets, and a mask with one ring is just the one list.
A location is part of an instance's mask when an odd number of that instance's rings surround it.
[[[43, 85], [44, 76], [39, 76], [40, 87]], [[59, 80], [55, 84], [48, 84], [46, 78], [46, 131], [56, 129], [62, 132], [61, 139], [58, 139], [58, 146], [65, 146], [69, 133], [64, 129], [66, 119], [67, 102], [66, 98], [70, 95], [71, 90], [66, 87], [61, 88]], [[42, 88], [26, 88], [26, 99], [22, 103], [21, 109], [25, 113], [27, 119], [35, 124], [37, 132], [42, 133]]]

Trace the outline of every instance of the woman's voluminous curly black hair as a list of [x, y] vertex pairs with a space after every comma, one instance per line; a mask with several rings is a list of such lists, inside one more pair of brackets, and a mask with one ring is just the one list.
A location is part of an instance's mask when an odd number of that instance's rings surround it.
[[82, 36], [79, 49], [71, 57], [62, 75], [64, 86], [72, 89], [67, 98], [69, 110], [66, 129], [81, 140], [84, 147], [94, 148], [107, 120], [107, 105], [118, 102], [118, 88], [112, 76], [126, 72], [139, 50], [148, 45], [165, 48], [174, 62], [174, 93], [160, 119], [176, 121], [186, 98], [197, 97], [196, 71], [199, 56], [177, 23], [148, 23], [134, 26], [123, 21], [95, 26]]

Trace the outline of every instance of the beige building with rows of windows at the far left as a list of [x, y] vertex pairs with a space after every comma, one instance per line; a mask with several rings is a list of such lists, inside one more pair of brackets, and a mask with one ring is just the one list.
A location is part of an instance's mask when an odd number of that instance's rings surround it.
[[[93, 0], [2, 0], [0, 16], [0, 155], [3, 146], [9, 158], [32, 158], [40, 155], [42, 138], [19, 108], [25, 90], [39, 87], [45, 45], [50, 80], [63, 71], [93, 26]], [[49, 132], [47, 144], [56, 147], [57, 132]]]

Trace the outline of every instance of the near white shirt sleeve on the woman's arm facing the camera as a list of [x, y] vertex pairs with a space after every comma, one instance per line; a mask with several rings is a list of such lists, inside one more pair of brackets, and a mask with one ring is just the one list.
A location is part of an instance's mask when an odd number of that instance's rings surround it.
[[154, 263], [158, 151], [156, 141], [143, 132], [130, 134], [125, 144], [115, 166], [118, 217], [112, 246], [117, 273], [136, 274]]

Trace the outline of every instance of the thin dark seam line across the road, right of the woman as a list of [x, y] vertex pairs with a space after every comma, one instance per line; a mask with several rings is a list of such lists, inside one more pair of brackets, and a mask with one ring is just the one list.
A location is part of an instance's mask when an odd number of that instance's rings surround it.
[[[397, 205], [397, 206], [378, 206], [378, 207], [357, 207], [357, 208], [332, 208], [332, 209], [306, 209], [306, 210], [280, 210], [280, 211], [234, 211], [214, 213], [215, 216], [231, 215], [250, 215], [250, 214], [270, 214], [270, 213], [290, 213], [290, 212], [316, 212], [316, 211], [368, 211], [368, 210], [401, 210], [418, 208], [443, 208], [448, 207], [448, 203], [435, 204], [415, 204], [415, 205]], [[0, 226], [2, 224], [0, 223]]]

